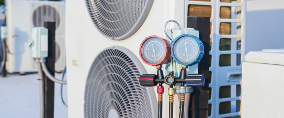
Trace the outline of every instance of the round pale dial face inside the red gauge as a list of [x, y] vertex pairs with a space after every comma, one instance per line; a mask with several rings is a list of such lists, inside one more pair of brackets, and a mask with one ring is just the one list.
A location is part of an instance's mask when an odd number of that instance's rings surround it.
[[149, 38], [142, 45], [141, 54], [142, 58], [148, 63], [158, 63], [165, 55], [165, 46], [160, 39]]

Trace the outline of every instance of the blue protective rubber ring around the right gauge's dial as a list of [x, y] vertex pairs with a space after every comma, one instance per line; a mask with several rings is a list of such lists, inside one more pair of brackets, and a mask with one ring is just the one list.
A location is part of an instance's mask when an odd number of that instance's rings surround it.
[[[196, 57], [194, 60], [192, 60], [191, 62], [189, 63], [183, 63], [181, 61], [179, 61], [174, 53], [173, 53], [173, 46], [175, 44], [175, 42], [181, 38], [181, 37], [184, 37], [184, 36], [190, 36], [192, 37], [193, 39], [195, 39], [195, 41], [197, 41], [197, 43], [199, 43], [198, 47], [199, 47], [199, 55], [198, 57]], [[189, 66], [192, 66], [192, 65], [195, 65], [196, 63], [200, 62], [200, 60], [203, 58], [203, 55], [204, 55], [204, 45], [203, 43], [201, 42], [201, 40], [197, 37], [197, 36], [194, 36], [194, 35], [190, 35], [190, 34], [182, 34], [182, 35], [179, 35], [178, 37], [175, 38], [175, 40], [173, 41], [172, 45], [171, 45], [171, 54], [172, 54], [172, 57], [173, 59], [179, 63], [179, 64], [182, 64], [182, 65], [189, 65]]]

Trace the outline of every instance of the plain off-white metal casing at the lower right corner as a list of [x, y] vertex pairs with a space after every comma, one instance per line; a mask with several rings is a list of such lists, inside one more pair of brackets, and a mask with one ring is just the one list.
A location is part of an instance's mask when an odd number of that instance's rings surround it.
[[284, 49], [251, 51], [242, 69], [242, 118], [283, 118]]

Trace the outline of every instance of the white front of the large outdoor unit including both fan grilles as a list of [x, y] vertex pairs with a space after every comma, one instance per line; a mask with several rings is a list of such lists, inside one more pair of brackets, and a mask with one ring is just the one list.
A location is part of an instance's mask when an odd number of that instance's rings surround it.
[[[155, 74], [157, 69], [142, 62], [139, 46], [150, 35], [166, 38], [163, 28], [168, 20], [185, 28], [185, 10], [183, 0], [67, 0], [68, 116], [156, 118], [157, 87], [140, 86], [139, 76]], [[174, 28], [173, 23], [168, 28]], [[167, 118], [164, 87], [163, 117]], [[177, 95], [174, 99], [177, 118]]]

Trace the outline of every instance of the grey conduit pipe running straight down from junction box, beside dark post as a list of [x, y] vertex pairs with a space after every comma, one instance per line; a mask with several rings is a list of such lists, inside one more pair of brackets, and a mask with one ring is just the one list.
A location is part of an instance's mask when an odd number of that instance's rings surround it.
[[40, 95], [40, 117], [44, 118], [44, 82], [43, 82], [43, 72], [41, 69], [40, 62], [37, 62], [37, 68], [38, 68], [38, 80], [39, 80], [39, 95]]

